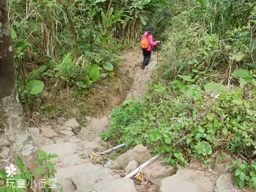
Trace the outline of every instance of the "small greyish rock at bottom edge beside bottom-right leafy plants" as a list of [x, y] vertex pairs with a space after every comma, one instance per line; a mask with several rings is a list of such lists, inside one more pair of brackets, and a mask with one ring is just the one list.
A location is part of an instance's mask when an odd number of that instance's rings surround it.
[[242, 190], [234, 185], [234, 176], [227, 173], [219, 176], [214, 192], [242, 192]]

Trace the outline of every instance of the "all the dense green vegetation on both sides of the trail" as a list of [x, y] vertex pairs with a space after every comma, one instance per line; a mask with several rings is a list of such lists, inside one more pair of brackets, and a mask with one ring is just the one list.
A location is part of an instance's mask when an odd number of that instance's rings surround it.
[[[90, 87], [114, 78], [121, 51], [138, 46], [151, 25], [163, 41], [163, 59], [148, 94], [116, 107], [101, 137], [147, 145], [178, 166], [197, 157], [209, 167], [230, 154], [243, 160], [229, 165], [236, 168], [235, 184], [256, 187], [253, 0], [9, 0], [9, 6], [19, 98], [28, 119], [43, 88], [53, 87], [56, 99], [42, 105], [42, 114], [55, 109], [57, 118], [68, 103], [87, 114]], [[67, 100], [57, 98], [61, 89]]]

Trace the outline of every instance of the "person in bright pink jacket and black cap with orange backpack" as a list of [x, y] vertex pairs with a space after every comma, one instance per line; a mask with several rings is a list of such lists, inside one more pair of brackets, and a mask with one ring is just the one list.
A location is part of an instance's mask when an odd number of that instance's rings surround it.
[[157, 45], [157, 43], [160, 43], [160, 41], [153, 41], [153, 36], [152, 36], [153, 30], [154, 30], [154, 27], [152, 27], [152, 26], [149, 27], [148, 31], [144, 32], [144, 34], [143, 34], [143, 36], [142, 36], [142, 38], [140, 40], [140, 41], [142, 41], [142, 39], [145, 36], [147, 36], [148, 48], [142, 49], [143, 50], [143, 56], [144, 56], [143, 62], [142, 62], [142, 64], [140, 64], [142, 69], [145, 69], [145, 66], [147, 65], [147, 62], [148, 62], [148, 60], [151, 57], [151, 46], [154, 46], [154, 45]]

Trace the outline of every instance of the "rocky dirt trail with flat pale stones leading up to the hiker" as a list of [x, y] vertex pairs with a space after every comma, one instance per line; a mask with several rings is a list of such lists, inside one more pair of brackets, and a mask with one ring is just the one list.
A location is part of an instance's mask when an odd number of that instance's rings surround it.
[[[147, 91], [146, 81], [157, 65], [157, 52], [145, 70], [140, 68], [143, 56], [139, 51], [124, 53], [123, 66], [133, 78], [131, 90], [126, 99], [135, 96], [139, 99]], [[79, 125], [73, 118], [59, 118], [56, 124], [41, 124], [30, 127], [34, 141], [42, 150], [58, 154], [52, 159], [57, 169], [56, 180], [61, 183], [63, 192], [234, 192], [241, 191], [233, 185], [233, 177], [225, 170], [225, 165], [206, 169], [200, 162], [192, 161], [189, 169], [176, 170], [165, 165], [162, 158], [142, 170], [144, 180], [122, 178], [151, 158], [147, 148], [138, 145], [126, 153], [115, 152], [102, 155], [101, 152], [113, 146], [98, 137], [109, 126], [110, 115], [103, 118], [86, 117], [86, 123]], [[82, 128], [80, 129], [80, 126]], [[12, 159], [7, 138], [0, 134], [1, 164], [5, 166]], [[103, 165], [111, 160], [111, 165]], [[122, 176], [122, 177], [121, 177]]]

